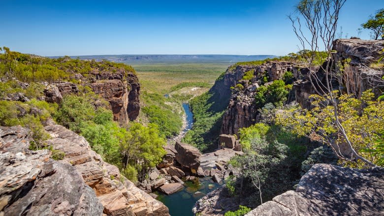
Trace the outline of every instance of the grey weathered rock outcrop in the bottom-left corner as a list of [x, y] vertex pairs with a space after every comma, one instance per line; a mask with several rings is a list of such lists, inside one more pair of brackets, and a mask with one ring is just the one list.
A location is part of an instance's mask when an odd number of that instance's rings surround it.
[[0, 127], [0, 215], [101, 216], [95, 191], [76, 168], [50, 159], [48, 150], [29, 150], [30, 135]]

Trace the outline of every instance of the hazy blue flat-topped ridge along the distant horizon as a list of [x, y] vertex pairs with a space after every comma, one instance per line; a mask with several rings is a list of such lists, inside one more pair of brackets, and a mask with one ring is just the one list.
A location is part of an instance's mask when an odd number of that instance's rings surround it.
[[[51, 58], [58, 58], [53, 56]], [[274, 55], [87, 55], [71, 56], [71, 58], [103, 59], [112, 62], [122, 62], [128, 64], [140, 63], [236, 63], [274, 58]]]

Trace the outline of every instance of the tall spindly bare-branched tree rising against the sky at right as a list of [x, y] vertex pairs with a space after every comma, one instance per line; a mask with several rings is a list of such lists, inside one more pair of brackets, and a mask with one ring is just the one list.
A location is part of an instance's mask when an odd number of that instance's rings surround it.
[[[351, 139], [347, 135], [345, 128], [339, 118], [339, 105], [338, 91], [335, 83], [338, 83], [339, 72], [333, 70], [335, 61], [332, 56], [332, 42], [335, 39], [337, 31], [337, 22], [339, 19], [339, 12], [343, 7], [346, 0], [300, 0], [296, 5], [297, 16], [289, 16], [292, 21], [293, 31], [300, 41], [301, 50], [310, 50], [309, 55], [304, 55], [306, 59], [306, 66], [308, 68], [308, 77], [312, 84], [314, 91], [322, 98], [324, 107], [331, 107], [332, 118], [327, 118], [322, 124], [334, 125], [336, 131], [332, 137], [325, 137], [321, 132], [312, 134], [311, 138], [317, 141], [329, 144], [334, 150], [335, 154], [342, 160], [357, 161], [361, 160], [368, 166], [375, 166], [372, 162], [359, 155], [352, 146]], [[317, 70], [314, 65], [315, 53], [324, 48], [328, 54], [327, 59], [322, 59], [324, 62], [320, 69]], [[307, 125], [303, 125], [306, 127]], [[315, 127], [316, 124], [313, 124]], [[338, 137], [343, 140], [342, 143], [334, 142]], [[352, 152], [349, 155], [344, 155], [340, 150], [348, 149]]]

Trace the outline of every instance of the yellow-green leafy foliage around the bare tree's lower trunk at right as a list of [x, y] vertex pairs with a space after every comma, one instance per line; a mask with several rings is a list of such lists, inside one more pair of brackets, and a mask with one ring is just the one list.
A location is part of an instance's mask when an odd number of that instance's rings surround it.
[[[307, 136], [329, 146], [346, 145], [345, 136], [340, 134], [335, 125], [334, 107], [328, 105], [323, 97], [313, 95], [311, 110], [292, 108], [278, 114], [277, 122], [292, 128], [299, 136]], [[349, 137], [352, 147], [373, 163], [378, 163], [379, 149], [374, 148], [372, 140], [381, 135], [384, 127], [384, 102], [373, 100], [374, 94], [368, 90], [363, 92], [360, 99], [352, 95], [338, 97], [338, 118]], [[375, 153], [376, 152], [376, 153]], [[347, 160], [344, 155], [335, 151], [340, 159]], [[361, 161], [355, 161], [350, 166], [362, 167]]]

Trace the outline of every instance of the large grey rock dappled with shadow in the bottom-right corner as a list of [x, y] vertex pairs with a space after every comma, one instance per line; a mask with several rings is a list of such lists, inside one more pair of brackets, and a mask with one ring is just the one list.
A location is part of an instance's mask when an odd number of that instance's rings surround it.
[[295, 191], [287, 191], [246, 216], [384, 215], [384, 169], [314, 165]]

